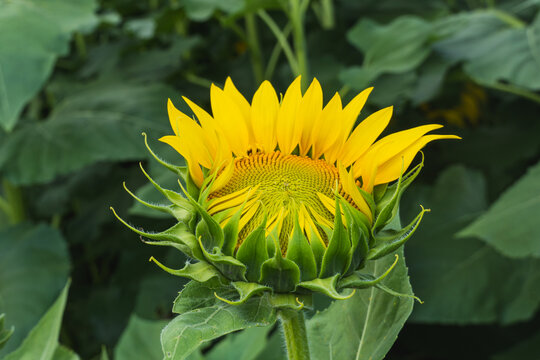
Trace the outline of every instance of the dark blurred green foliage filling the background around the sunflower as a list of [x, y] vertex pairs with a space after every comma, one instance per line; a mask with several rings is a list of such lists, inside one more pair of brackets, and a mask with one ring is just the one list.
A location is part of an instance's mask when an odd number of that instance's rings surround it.
[[[108, 209], [171, 225], [122, 189], [159, 201], [138, 162], [176, 181], [140, 133], [181, 164], [155, 140], [169, 132], [168, 97], [208, 108], [211, 82], [230, 75], [249, 98], [301, 70], [327, 99], [373, 85], [368, 110], [394, 104], [391, 130], [439, 122], [463, 137], [429, 146], [401, 209], [405, 222], [419, 203], [432, 209], [405, 249], [425, 303], [392, 346], [410, 302], [365, 290], [324, 310], [317, 298], [314, 357], [537, 358], [540, 1], [302, 4], [305, 64], [283, 48], [295, 27], [283, 0], [0, 0], [0, 358], [161, 359], [183, 281], [147, 260], [185, 259], [144, 246]], [[406, 270], [395, 288], [407, 290]], [[392, 301], [395, 312], [379, 307]], [[274, 327], [253, 327], [189, 358], [277, 360], [282, 348]]]

